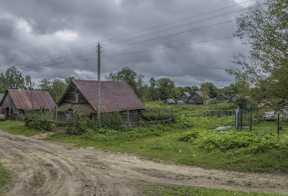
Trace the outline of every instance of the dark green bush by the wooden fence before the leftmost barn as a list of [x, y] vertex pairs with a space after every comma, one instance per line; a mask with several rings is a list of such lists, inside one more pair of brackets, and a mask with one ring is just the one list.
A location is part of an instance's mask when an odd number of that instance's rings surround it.
[[[37, 130], [37, 131], [51, 131], [53, 130], [53, 124], [43, 121], [35, 121], [39, 120], [39, 114], [29, 114], [26, 113], [24, 120], [25, 126], [29, 129]], [[46, 116], [45, 120], [51, 120], [48, 116]]]

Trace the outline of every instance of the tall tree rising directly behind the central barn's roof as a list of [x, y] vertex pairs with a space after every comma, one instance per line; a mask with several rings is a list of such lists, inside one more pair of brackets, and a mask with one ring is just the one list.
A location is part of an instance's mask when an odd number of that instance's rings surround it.
[[145, 85], [145, 79], [143, 75], [137, 74], [128, 67], [124, 67], [118, 72], [109, 72], [109, 75], [106, 75], [104, 78], [109, 81], [124, 80], [132, 89], [132, 91], [134, 91], [134, 93], [139, 97], [139, 99], [143, 101], [144, 94], [143, 91], [141, 91]]

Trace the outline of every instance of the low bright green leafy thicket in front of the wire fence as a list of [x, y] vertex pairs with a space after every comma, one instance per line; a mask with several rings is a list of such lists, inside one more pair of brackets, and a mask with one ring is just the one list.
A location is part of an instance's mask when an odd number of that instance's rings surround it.
[[177, 140], [191, 143], [199, 149], [218, 149], [227, 153], [288, 149], [288, 136], [277, 135], [272, 132], [257, 135], [254, 132], [213, 132], [193, 129], [179, 136]]

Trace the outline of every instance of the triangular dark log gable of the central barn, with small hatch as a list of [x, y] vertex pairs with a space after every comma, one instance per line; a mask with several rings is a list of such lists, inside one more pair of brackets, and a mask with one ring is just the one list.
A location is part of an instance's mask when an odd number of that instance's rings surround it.
[[90, 104], [84, 95], [79, 91], [79, 89], [73, 84], [70, 89], [68, 89], [69, 93], [66, 93], [63, 103], [80, 103], [80, 104]]

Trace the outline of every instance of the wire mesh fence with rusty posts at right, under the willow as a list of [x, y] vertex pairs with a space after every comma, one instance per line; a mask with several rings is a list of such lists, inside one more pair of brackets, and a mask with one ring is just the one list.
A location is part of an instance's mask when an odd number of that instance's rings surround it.
[[[258, 133], [268, 134], [270, 132], [276, 134], [288, 135], [288, 124], [282, 123], [279, 114], [272, 118], [263, 117], [255, 118], [258, 114], [247, 108], [237, 108], [235, 110], [235, 127], [238, 131], [254, 131]], [[259, 115], [258, 115], [259, 117]]]

